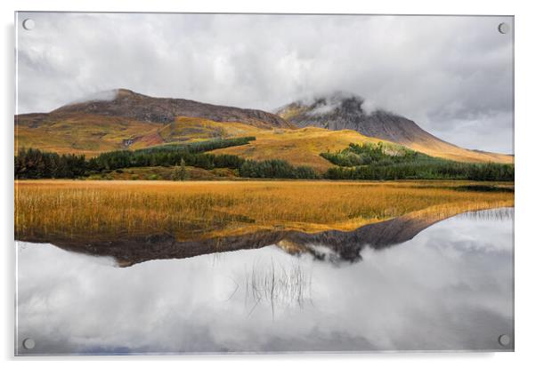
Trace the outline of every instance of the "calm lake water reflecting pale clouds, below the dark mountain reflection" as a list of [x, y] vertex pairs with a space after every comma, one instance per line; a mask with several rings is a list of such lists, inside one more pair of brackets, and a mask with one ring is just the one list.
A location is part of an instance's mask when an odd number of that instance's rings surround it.
[[318, 242], [120, 268], [19, 242], [16, 353], [509, 351], [513, 222], [460, 214], [351, 260]]

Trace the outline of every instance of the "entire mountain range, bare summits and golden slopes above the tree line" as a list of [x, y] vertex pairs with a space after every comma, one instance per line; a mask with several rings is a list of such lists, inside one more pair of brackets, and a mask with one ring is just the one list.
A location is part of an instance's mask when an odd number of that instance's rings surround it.
[[15, 116], [15, 152], [23, 147], [40, 148], [91, 157], [111, 150], [256, 136], [257, 140], [246, 146], [215, 153], [256, 160], [279, 158], [324, 171], [332, 164], [320, 156], [322, 152], [342, 150], [350, 143], [386, 140], [454, 161], [514, 160], [513, 156], [459, 148], [402, 116], [385, 111], [367, 114], [363, 100], [355, 96], [335, 94], [308, 103], [293, 102], [281, 108], [279, 116], [192, 100], [153, 98], [122, 89], [110, 96], [89, 98], [48, 114]]

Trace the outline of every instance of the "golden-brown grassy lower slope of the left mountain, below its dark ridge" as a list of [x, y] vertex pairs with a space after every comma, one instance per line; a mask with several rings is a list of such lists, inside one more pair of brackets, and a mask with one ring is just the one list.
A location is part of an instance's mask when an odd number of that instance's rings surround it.
[[253, 125], [177, 116], [171, 123], [142, 122], [121, 116], [54, 113], [15, 117], [15, 152], [40, 148], [96, 156], [118, 149], [147, 148], [191, 140], [209, 140], [263, 132]]

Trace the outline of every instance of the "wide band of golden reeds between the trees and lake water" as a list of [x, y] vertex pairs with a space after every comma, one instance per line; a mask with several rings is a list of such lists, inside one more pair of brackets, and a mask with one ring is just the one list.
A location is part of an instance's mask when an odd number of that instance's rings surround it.
[[258, 230], [316, 232], [433, 208], [459, 213], [513, 206], [513, 193], [453, 190], [467, 181], [15, 182], [20, 240], [117, 239], [169, 233], [189, 240]]

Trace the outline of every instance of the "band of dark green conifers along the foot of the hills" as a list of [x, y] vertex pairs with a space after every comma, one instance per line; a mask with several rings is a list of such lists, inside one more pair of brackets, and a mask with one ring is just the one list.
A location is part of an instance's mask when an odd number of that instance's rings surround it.
[[15, 156], [15, 179], [78, 178], [128, 167], [175, 166], [173, 180], [187, 180], [186, 166], [205, 170], [229, 168], [244, 178], [329, 180], [514, 180], [513, 164], [467, 164], [424, 154], [398, 145], [350, 145], [336, 153], [323, 153], [336, 167], [323, 175], [309, 166], [283, 160], [246, 160], [240, 156], [205, 153], [209, 149], [245, 144], [251, 137], [166, 145], [135, 151], [85, 156], [59, 155], [21, 148]]

